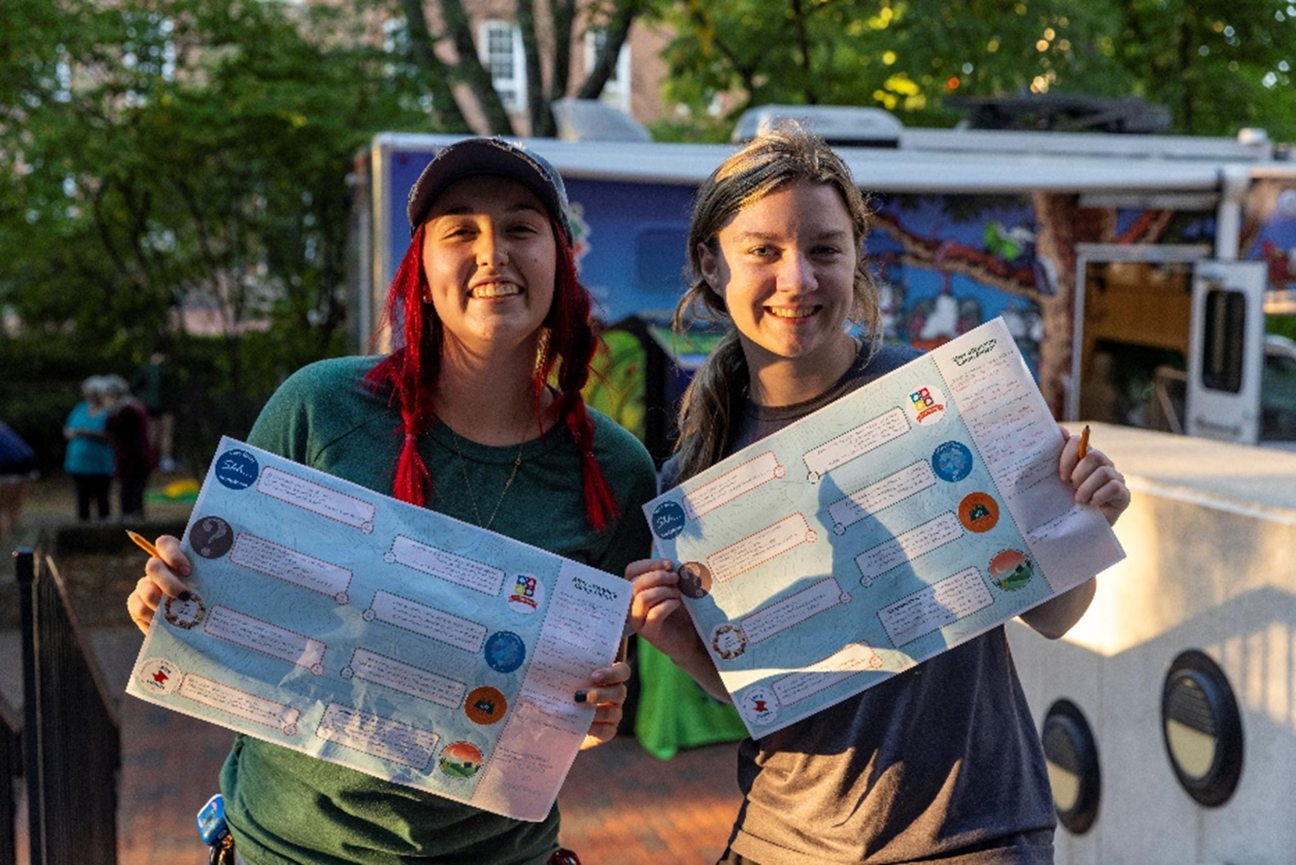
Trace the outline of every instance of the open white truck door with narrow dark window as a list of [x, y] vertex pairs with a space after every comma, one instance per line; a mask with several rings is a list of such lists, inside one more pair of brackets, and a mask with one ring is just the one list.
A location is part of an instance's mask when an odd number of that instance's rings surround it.
[[1255, 445], [1265, 357], [1266, 268], [1199, 261], [1192, 270], [1187, 433]]

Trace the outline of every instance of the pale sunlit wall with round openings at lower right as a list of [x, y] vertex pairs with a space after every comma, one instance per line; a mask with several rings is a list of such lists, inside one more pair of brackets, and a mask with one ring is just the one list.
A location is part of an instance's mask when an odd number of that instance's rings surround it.
[[[1093, 441], [1134, 492], [1116, 530], [1129, 558], [1065, 638], [1008, 626], [1037, 725], [1068, 698], [1098, 739], [1098, 818], [1059, 829], [1058, 862], [1296, 861], [1296, 455], [1099, 425]], [[1242, 713], [1242, 779], [1218, 808], [1183, 791], [1163, 741], [1163, 683], [1188, 648]]]

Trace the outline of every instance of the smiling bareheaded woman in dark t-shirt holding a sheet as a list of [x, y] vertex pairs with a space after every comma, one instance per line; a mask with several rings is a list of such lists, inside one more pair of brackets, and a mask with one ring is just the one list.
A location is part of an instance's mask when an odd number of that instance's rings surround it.
[[[677, 309], [732, 323], [680, 410], [662, 489], [914, 359], [881, 342], [862, 244], [864, 200], [842, 160], [800, 127], [766, 132], [701, 185], [688, 236], [692, 285]], [[853, 336], [845, 327], [853, 323]], [[1115, 521], [1129, 490], [1096, 450], [1058, 466], [1076, 501]], [[682, 607], [675, 564], [632, 563], [631, 624], [727, 699]], [[1086, 582], [1023, 619], [1061, 635]], [[728, 864], [1052, 861], [1043, 753], [1003, 628], [739, 747], [744, 795]]]

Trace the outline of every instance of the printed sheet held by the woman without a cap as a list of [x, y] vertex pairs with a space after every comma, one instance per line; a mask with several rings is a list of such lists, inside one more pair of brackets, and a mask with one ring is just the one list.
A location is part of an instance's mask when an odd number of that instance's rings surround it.
[[1115, 564], [1002, 319], [644, 506], [753, 738]]

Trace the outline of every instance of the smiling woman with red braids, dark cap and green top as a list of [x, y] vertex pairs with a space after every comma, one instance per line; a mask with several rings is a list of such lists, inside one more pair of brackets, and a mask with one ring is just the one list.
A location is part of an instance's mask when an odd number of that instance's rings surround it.
[[[566, 192], [544, 160], [499, 139], [443, 148], [410, 193], [413, 237], [388, 297], [397, 348], [288, 379], [249, 444], [603, 571], [649, 545], [653, 464], [587, 410], [597, 340], [577, 280]], [[189, 563], [158, 539], [128, 607], [146, 629]], [[586, 744], [612, 738], [629, 668], [592, 670]], [[237, 856], [283, 862], [575, 861], [555, 808], [520, 822], [244, 735], [220, 776]], [[568, 859], [564, 859], [566, 856]]]

